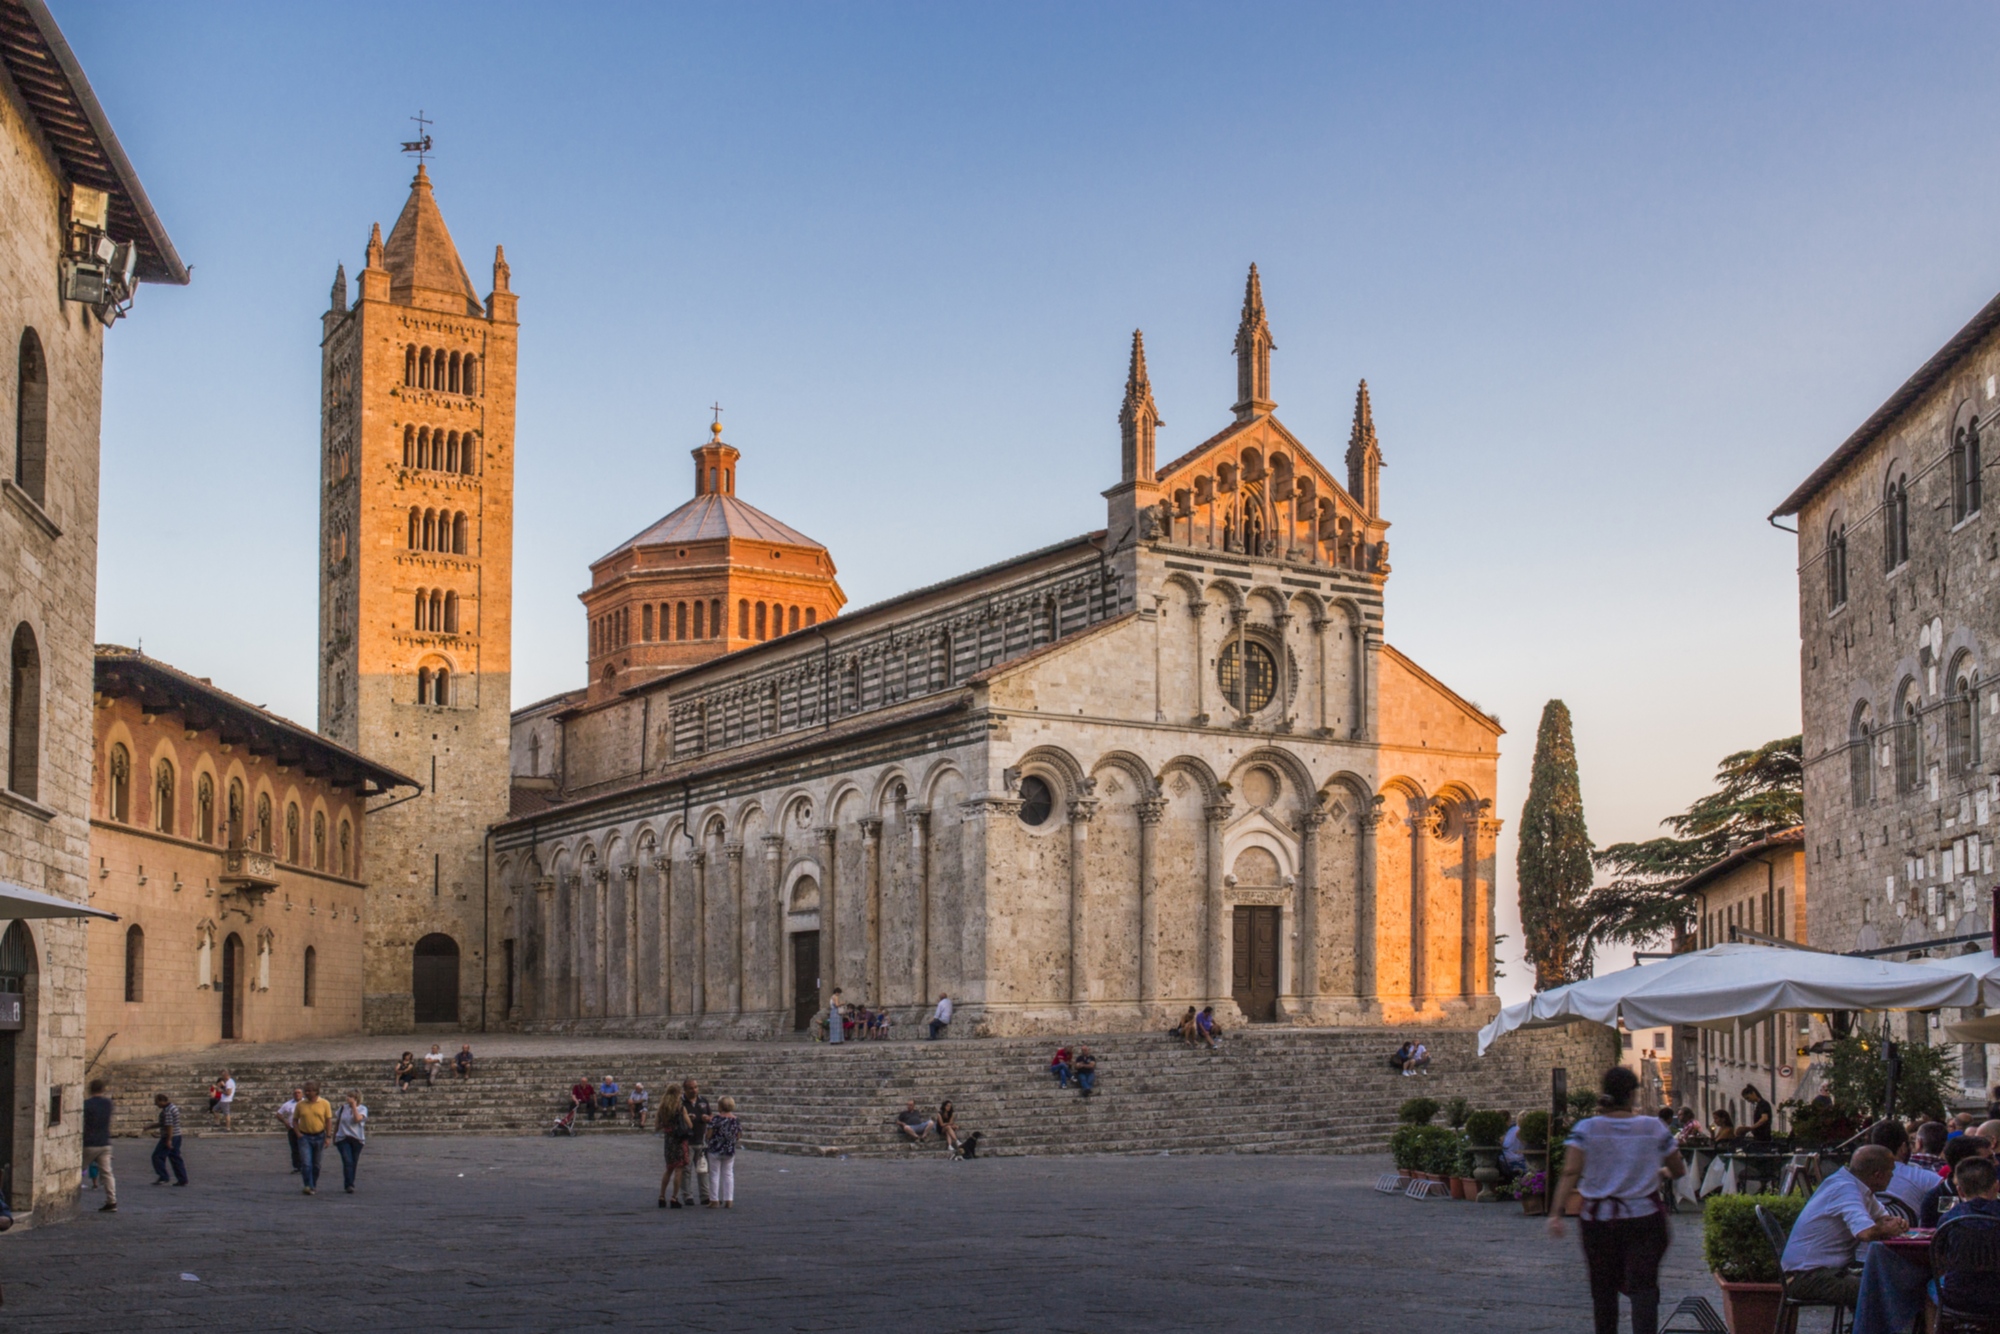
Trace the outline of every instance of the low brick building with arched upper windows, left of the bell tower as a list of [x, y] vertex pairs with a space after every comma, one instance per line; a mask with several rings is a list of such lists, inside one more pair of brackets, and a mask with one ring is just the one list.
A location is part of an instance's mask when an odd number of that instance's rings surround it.
[[416, 782], [108, 644], [92, 756], [92, 1056], [360, 1032], [366, 804]]

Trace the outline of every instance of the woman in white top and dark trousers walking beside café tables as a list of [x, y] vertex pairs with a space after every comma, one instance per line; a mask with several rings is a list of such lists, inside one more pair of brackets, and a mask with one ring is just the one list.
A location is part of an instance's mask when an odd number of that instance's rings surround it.
[[1548, 1204], [1548, 1234], [1562, 1236], [1570, 1192], [1584, 1196], [1584, 1264], [1596, 1334], [1618, 1334], [1618, 1294], [1632, 1298], [1632, 1334], [1660, 1328], [1660, 1256], [1666, 1212], [1660, 1184], [1682, 1176], [1674, 1132], [1656, 1116], [1634, 1116], [1638, 1076], [1612, 1066], [1600, 1082], [1602, 1112], [1576, 1122], [1562, 1150], [1562, 1182]]

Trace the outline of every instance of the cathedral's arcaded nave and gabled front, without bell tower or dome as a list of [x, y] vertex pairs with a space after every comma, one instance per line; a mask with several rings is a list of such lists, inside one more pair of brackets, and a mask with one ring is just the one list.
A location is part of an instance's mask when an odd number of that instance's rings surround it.
[[1234, 418], [1158, 466], [1134, 336], [1100, 532], [782, 634], [738, 594], [732, 652], [522, 710], [510, 1016], [774, 1036], [836, 986], [986, 1034], [1488, 1016], [1500, 724], [1384, 642], [1366, 386], [1336, 476], [1272, 348], [1252, 268]]

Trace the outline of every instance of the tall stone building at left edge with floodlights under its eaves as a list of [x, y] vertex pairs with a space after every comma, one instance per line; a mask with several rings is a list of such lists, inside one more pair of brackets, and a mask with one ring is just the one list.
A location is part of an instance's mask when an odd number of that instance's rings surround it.
[[[42, 0], [0, 0], [0, 634], [8, 766], [0, 880], [90, 896], [98, 410], [108, 326], [188, 270]], [[0, 922], [0, 1188], [74, 1208], [84, 922]]]

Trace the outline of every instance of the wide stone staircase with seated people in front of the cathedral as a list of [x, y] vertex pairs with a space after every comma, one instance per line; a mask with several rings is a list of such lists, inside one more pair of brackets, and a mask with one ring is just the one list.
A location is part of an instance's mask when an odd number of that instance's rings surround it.
[[[1596, 1036], [1592, 1036], [1596, 1034]], [[1430, 1044], [1428, 1076], [1406, 1078], [1388, 1066], [1404, 1038]], [[942, 1042], [848, 1042], [842, 1046], [764, 1042], [734, 1048], [660, 1044], [616, 1056], [560, 1054], [480, 1060], [472, 1078], [422, 1078], [398, 1092], [392, 1058], [260, 1062], [256, 1048], [230, 1054], [238, 1080], [234, 1130], [212, 1128], [208, 1082], [216, 1062], [152, 1058], [110, 1070], [120, 1134], [144, 1134], [152, 1096], [170, 1094], [190, 1134], [276, 1134], [276, 1106], [286, 1090], [312, 1078], [328, 1098], [360, 1090], [370, 1134], [538, 1134], [568, 1108], [568, 1088], [604, 1074], [622, 1092], [634, 1082], [654, 1094], [700, 1080], [714, 1100], [736, 1098], [748, 1148], [788, 1154], [888, 1156], [912, 1150], [894, 1118], [906, 1102], [934, 1112], [954, 1100], [964, 1132], [982, 1132], [988, 1154], [1348, 1154], [1378, 1152], [1388, 1142], [1404, 1098], [1466, 1096], [1480, 1108], [1520, 1110], [1548, 1102], [1550, 1066], [1568, 1064], [1572, 1082], [1594, 1080], [1614, 1056], [1594, 1028], [1524, 1032], [1494, 1052], [1474, 1054], [1470, 1032], [1408, 1030], [1246, 1030], [1220, 1050], [1186, 1048], [1160, 1034], [1108, 1034], [1090, 1040], [1098, 1056], [1098, 1092], [1080, 1098], [1048, 1074], [1054, 1042], [1046, 1038], [976, 1038]], [[384, 1050], [396, 1046], [384, 1038]], [[620, 1108], [616, 1122], [582, 1134], [634, 1134]]]

